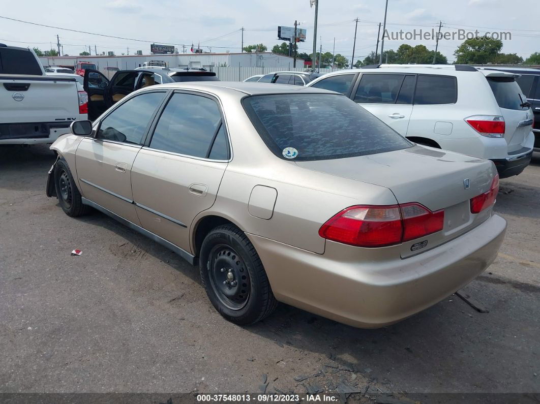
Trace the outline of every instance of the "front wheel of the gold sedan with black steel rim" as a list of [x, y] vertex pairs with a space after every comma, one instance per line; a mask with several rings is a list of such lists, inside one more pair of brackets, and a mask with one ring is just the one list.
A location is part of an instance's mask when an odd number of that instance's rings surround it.
[[58, 202], [66, 215], [77, 217], [89, 213], [90, 207], [83, 204], [71, 170], [64, 159], [59, 159], [55, 165], [55, 187]]

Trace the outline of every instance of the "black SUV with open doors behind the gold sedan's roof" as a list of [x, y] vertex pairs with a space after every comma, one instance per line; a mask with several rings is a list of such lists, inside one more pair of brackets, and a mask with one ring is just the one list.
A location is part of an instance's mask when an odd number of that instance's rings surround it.
[[119, 70], [111, 80], [97, 70], [84, 72], [84, 91], [88, 93], [88, 119], [95, 120], [114, 103], [139, 88], [181, 81], [219, 81], [215, 72], [205, 69], [144, 67]]

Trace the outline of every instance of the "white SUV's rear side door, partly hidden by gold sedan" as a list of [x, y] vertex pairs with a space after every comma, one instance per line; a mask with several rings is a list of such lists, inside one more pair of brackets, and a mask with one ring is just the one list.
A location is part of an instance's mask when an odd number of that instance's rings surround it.
[[362, 73], [351, 98], [405, 136], [413, 112], [415, 81], [414, 74]]

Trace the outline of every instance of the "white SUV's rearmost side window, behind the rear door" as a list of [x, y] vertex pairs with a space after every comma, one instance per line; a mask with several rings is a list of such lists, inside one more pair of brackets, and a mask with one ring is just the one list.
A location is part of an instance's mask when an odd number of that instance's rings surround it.
[[455, 104], [457, 80], [452, 76], [419, 74], [414, 95], [415, 105]]

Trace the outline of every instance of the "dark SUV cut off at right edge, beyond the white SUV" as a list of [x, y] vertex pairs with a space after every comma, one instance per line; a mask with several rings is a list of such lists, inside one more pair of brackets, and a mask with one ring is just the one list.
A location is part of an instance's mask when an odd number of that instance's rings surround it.
[[535, 152], [540, 152], [540, 69], [531, 69], [527, 67], [485, 67], [485, 69], [501, 70], [521, 74], [521, 77], [516, 79], [517, 84], [521, 87], [521, 91], [530, 102], [532, 112], [535, 114], [535, 123], [532, 127], [532, 132], [535, 134]]

